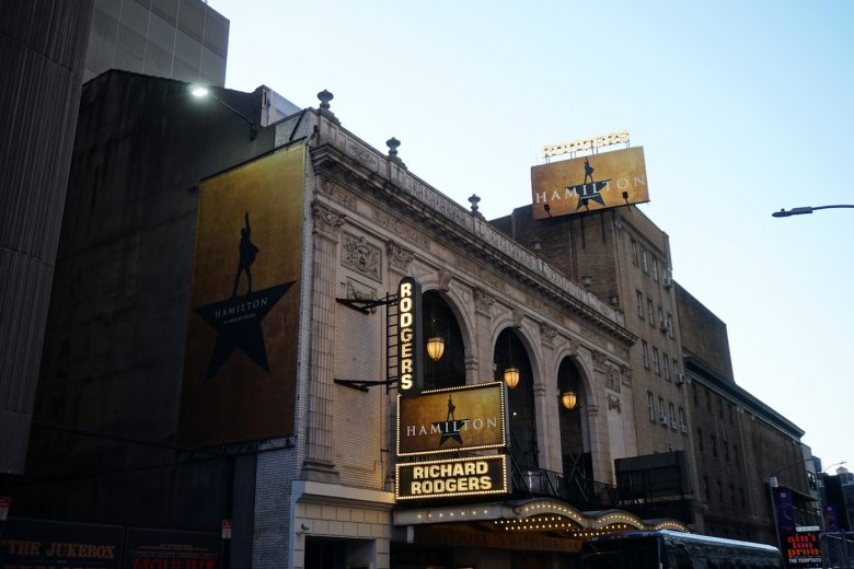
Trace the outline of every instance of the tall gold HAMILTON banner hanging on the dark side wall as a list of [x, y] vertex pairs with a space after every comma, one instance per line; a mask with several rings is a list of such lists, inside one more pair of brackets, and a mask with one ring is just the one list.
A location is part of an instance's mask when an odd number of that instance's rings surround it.
[[201, 183], [178, 440], [293, 433], [304, 147]]

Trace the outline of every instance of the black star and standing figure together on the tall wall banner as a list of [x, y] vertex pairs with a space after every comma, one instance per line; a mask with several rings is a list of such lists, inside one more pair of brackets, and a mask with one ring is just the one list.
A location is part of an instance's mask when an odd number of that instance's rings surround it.
[[[199, 306], [195, 313], [201, 316], [217, 332], [217, 341], [210, 356], [205, 383], [208, 383], [235, 350], [240, 350], [269, 372], [267, 348], [261, 323], [267, 313], [285, 295], [296, 281], [277, 284], [268, 289], [252, 291], [252, 264], [259, 249], [252, 243], [249, 211], [244, 217], [245, 227], [240, 230], [238, 269], [234, 286], [229, 299]], [[246, 293], [238, 295], [241, 277], [246, 276]]]

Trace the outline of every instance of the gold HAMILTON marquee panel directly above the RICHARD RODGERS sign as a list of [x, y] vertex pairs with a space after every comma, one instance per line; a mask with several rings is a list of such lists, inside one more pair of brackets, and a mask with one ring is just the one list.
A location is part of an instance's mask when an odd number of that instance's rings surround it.
[[397, 456], [507, 446], [504, 382], [397, 398]]

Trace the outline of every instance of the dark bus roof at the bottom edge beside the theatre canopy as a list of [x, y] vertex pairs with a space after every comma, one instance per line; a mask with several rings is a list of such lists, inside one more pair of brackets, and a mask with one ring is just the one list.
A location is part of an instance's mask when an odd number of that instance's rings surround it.
[[593, 537], [581, 569], [783, 569], [776, 547], [660, 530]]

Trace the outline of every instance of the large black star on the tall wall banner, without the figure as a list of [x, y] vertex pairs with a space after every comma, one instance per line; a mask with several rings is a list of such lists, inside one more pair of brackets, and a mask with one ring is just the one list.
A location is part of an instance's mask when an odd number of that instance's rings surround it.
[[196, 314], [217, 330], [217, 344], [210, 356], [205, 383], [210, 381], [234, 350], [241, 350], [264, 371], [269, 372], [261, 321], [295, 282], [292, 280], [195, 310]]

